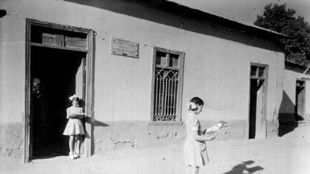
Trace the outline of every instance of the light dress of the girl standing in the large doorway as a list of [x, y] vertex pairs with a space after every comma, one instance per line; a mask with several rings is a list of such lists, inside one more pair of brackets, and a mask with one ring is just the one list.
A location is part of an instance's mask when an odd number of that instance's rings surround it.
[[67, 126], [65, 126], [63, 135], [85, 135], [85, 130], [81, 120], [79, 118], [69, 118], [72, 113], [83, 113], [83, 108], [72, 106], [67, 109], [67, 118], [69, 121]]

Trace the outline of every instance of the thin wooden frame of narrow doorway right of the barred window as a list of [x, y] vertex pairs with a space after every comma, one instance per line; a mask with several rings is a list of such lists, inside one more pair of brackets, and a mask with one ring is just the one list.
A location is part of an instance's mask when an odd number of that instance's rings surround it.
[[249, 116], [250, 116], [250, 101], [251, 101], [251, 66], [258, 66], [258, 67], [265, 67], [265, 81], [262, 87], [263, 98], [262, 101], [262, 122], [265, 124], [265, 135], [264, 138], [267, 138], [267, 86], [268, 86], [268, 72], [269, 72], [269, 65], [265, 65], [262, 63], [249, 63], [249, 99], [248, 99], [248, 112], [247, 112], [247, 129], [246, 129], [246, 138], [249, 139]]

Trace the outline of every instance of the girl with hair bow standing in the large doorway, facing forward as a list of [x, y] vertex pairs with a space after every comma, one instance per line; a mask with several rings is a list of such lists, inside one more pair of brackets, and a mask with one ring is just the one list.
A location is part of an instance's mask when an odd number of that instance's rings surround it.
[[[85, 130], [81, 119], [85, 116], [83, 113], [83, 108], [80, 107], [81, 98], [75, 94], [69, 98], [72, 101], [72, 106], [67, 109], [68, 123], [63, 131], [63, 135], [70, 135], [69, 138], [69, 157], [74, 159], [79, 157], [81, 147], [81, 135], [85, 135]], [[76, 147], [77, 149], [74, 149]], [[76, 150], [76, 151], [75, 151]]]

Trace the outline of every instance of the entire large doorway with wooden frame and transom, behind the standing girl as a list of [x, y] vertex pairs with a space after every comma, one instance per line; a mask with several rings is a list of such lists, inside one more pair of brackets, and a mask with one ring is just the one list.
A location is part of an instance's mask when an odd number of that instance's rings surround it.
[[[26, 20], [24, 162], [33, 158], [68, 154], [68, 97], [83, 98], [87, 118], [92, 118], [94, 83], [94, 32]], [[87, 120], [87, 119], [86, 119]], [[92, 125], [85, 122], [81, 153], [92, 152]]]

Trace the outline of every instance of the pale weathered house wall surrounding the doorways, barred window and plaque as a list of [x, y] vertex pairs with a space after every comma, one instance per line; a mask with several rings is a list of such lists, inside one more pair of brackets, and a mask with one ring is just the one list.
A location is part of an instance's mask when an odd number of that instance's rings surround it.
[[[147, 125], [154, 47], [185, 52], [183, 106], [192, 96], [203, 98], [205, 125], [217, 120], [228, 120], [232, 124], [221, 138], [247, 137], [251, 62], [269, 65], [267, 120], [272, 122], [278, 117], [284, 54], [278, 52], [272, 41], [129, 2], [87, 3], [90, 6], [52, 0], [0, 2], [8, 11], [8, 15], [0, 19], [0, 111], [3, 113], [0, 124], [23, 124], [27, 18], [96, 32], [94, 119], [103, 126], [94, 126], [95, 152], [173, 143], [185, 137], [184, 125]], [[112, 37], [139, 43], [139, 57], [111, 54]], [[183, 120], [186, 110], [182, 108]], [[10, 145], [6, 140], [9, 135], [1, 134], [2, 149]]]

